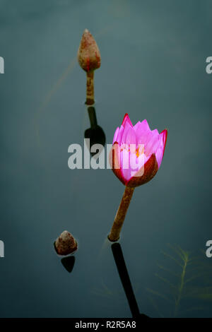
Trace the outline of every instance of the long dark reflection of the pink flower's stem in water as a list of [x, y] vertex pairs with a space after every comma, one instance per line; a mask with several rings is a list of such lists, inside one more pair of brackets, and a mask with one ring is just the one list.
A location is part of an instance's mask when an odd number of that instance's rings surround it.
[[128, 300], [132, 316], [139, 318], [147, 317], [145, 314], [139, 313], [139, 307], [136, 302], [134, 290], [131, 286], [131, 281], [124, 261], [121, 245], [119, 243], [114, 243], [112, 244], [111, 249], [112, 249], [112, 254], [114, 256], [114, 261], [117, 266], [117, 270], [119, 272], [119, 277], [122, 281], [122, 286], [124, 287], [124, 292], [126, 294], [126, 298]]

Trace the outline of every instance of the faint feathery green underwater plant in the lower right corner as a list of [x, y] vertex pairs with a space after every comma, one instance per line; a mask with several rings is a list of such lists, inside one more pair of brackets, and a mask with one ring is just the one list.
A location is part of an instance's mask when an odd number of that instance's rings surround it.
[[[212, 266], [205, 252], [192, 256], [179, 246], [168, 244], [162, 251], [167, 266], [158, 264], [155, 277], [161, 282], [160, 291], [147, 288], [149, 300], [157, 316], [187, 317], [209, 312], [212, 302]], [[165, 309], [162, 312], [160, 308]]]

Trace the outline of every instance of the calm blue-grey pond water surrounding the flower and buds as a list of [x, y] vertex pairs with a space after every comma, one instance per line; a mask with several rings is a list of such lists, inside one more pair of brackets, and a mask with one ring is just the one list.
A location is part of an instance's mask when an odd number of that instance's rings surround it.
[[[158, 266], [180, 278], [182, 267], [162, 253], [176, 257], [171, 244], [200, 257], [187, 284], [195, 296], [182, 298], [177, 316], [211, 316], [211, 19], [211, 0], [0, 0], [2, 317], [131, 316], [105, 242], [124, 186], [111, 170], [67, 164], [89, 127], [76, 61], [85, 28], [102, 57], [95, 99], [107, 143], [126, 112], [134, 124], [169, 129], [160, 170], [136, 188], [120, 242], [139, 309], [174, 315], [163, 299], [172, 286], [155, 275], [178, 285]], [[63, 230], [78, 239], [72, 273], [53, 248]]]

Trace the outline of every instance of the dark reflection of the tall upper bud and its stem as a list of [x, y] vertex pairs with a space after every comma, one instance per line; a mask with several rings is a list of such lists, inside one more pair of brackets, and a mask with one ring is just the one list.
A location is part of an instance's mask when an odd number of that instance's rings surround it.
[[[85, 138], [90, 138], [90, 147], [94, 144], [101, 144], [105, 146], [105, 133], [102, 128], [98, 125], [95, 108], [93, 106], [88, 107], [88, 116], [90, 119], [90, 128], [85, 131]], [[89, 149], [90, 149], [89, 147]], [[100, 151], [98, 151], [99, 155]], [[90, 154], [96, 155], [96, 152], [90, 152]]]

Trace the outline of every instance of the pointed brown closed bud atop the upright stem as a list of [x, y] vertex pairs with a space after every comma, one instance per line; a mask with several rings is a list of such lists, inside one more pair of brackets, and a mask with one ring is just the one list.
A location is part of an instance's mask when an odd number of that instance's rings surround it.
[[93, 35], [86, 29], [83, 32], [78, 48], [78, 63], [84, 71], [94, 71], [100, 68], [101, 56]]

